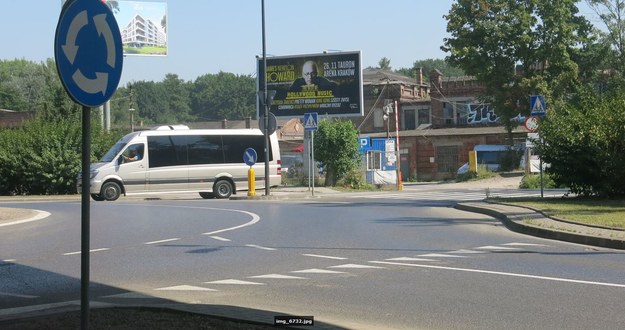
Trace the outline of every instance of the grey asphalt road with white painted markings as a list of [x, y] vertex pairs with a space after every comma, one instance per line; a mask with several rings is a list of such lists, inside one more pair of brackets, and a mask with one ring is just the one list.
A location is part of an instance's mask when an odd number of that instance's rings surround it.
[[[625, 253], [512, 233], [450, 207], [483, 193], [92, 203], [92, 301], [358, 329], [625, 324]], [[79, 300], [80, 203], [0, 206], [51, 214], [0, 227], [0, 316]]]

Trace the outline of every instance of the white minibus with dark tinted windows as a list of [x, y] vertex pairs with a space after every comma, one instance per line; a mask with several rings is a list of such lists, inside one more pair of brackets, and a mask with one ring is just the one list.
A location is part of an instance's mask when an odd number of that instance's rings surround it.
[[[265, 136], [259, 129], [189, 129], [160, 126], [122, 137], [90, 168], [89, 194], [96, 201], [120, 195], [197, 192], [229, 198], [248, 189], [244, 152], [253, 148], [256, 188], [265, 188]], [[269, 186], [281, 183], [280, 147], [269, 136]], [[78, 192], [81, 193], [81, 178]]]

